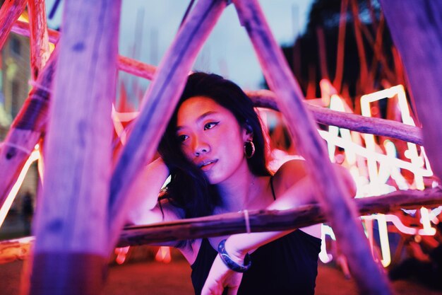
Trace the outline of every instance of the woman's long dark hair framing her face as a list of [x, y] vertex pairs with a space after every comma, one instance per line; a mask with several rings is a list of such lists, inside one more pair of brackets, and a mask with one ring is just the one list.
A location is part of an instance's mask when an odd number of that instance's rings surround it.
[[171, 173], [171, 181], [166, 187], [165, 197], [172, 204], [184, 209], [186, 218], [207, 216], [220, 204], [216, 185], [210, 185], [204, 173], [181, 151], [177, 137], [177, 112], [181, 104], [192, 97], [205, 96], [215, 100], [237, 119], [239, 126], [253, 132], [255, 154], [247, 159], [251, 173], [270, 175], [267, 168], [267, 153], [263, 129], [253, 102], [237, 84], [216, 74], [194, 73], [187, 80], [177, 108], [172, 115], [158, 151]]

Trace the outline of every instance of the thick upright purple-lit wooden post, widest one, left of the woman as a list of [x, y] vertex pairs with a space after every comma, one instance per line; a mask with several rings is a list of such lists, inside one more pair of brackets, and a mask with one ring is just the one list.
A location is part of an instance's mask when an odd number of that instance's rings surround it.
[[100, 294], [119, 0], [66, 1], [37, 204], [31, 294]]

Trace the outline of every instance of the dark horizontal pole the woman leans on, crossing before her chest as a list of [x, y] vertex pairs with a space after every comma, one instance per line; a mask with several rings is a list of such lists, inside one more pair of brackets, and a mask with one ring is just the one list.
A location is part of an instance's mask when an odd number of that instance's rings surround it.
[[[360, 215], [389, 214], [400, 209], [419, 209], [442, 204], [441, 187], [426, 190], [402, 190], [376, 197], [354, 199]], [[306, 204], [288, 210], [255, 210], [249, 212], [251, 232], [298, 229], [327, 221], [319, 204]], [[118, 243], [119, 247], [164, 243], [193, 238], [208, 238], [246, 232], [243, 213], [182, 219], [158, 224], [128, 226]], [[333, 229], [334, 230], [334, 229]]]

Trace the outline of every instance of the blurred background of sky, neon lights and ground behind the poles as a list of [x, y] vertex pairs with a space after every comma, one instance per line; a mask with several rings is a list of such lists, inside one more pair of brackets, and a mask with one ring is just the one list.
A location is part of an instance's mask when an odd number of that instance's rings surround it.
[[[119, 53], [157, 66], [191, 2], [123, 1]], [[261, 0], [259, 3], [307, 102], [419, 126], [400, 56], [378, 0]], [[46, 1], [52, 30], [63, 31], [63, 4], [63, 0]], [[26, 12], [20, 20], [28, 21]], [[1, 48], [0, 141], [6, 137], [28, 97], [29, 55], [28, 37], [16, 33], [11, 33]], [[232, 4], [226, 8], [193, 69], [221, 74], [245, 90], [268, 88]], [[149, 81], [119, 71], [117, 85], [116, 151], [130, 133], [130, 122], [136, 117]], [[279, 113], [265, 109], [259, 112], [268, 129], [270, 165], [276, 170], [287, 159], [297, 157], [296, 143], [290, 139]], [[124, 113], [133, 116], [123, 120], [119, 114]], [[332, 126], [321, 125], [318, 130], [328, 146], [330, 161], [350, 170], [357, 183], [357, 197], [438, 185], [422, 146]], [[16, 184], [16, 192], [9, 198], [10, 209], [2, 208], [1, 241], [31, 235], [40, 187], [37, 163], [38, 156], [31, 157]], [[442, 289], [441, 283], [435, 279], [442, 273], [440, 213], [441, 208], [437, 207], [362, 218], [373, 255], [390, 273], [390, 278], [398, 280], [397, 291], [442, 294], [438, 291]], [[0, 274], [7, 279], [0, 280], [0, 289], [7, 290], [2, 294], [18, 294], [20, 270], [26, 265], [29, 248], [5, 245], [0, 245], [0, 263], [3, 263]], [[333, 229], [327, 224], [323, 225], [320, 260], [317, 294], [357, 294], [345, 257], [335, 243]], [[123, 294], [128, 290], [131, 294], [142, 294], [145, 289], [152, 294], [192, 292], [190, 267], [173, 249], [148, 245], [117, 248], [109, 263], [105, 294]], [[330, 286], [335, 288], [330, 291]], [[181, 291], [177, 293], [177, 289]]]

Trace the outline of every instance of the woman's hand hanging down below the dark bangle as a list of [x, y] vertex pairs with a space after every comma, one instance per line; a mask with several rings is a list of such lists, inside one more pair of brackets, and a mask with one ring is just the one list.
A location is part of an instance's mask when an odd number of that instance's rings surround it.
[[201, 295], [221, 295], [225, 288], [227, 288], [227, 295], [237, 295], [241, 279], [242, 273], [230, 270], [222, 262], [220, 255], [217, 255], [205, 280]]

